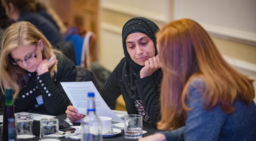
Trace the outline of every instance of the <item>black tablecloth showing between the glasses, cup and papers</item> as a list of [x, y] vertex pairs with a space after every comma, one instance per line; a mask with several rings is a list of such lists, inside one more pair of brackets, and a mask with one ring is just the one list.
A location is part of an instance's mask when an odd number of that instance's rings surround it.
[[[60, 125], [66, 125], [69, 126], [69, 124], [67, 124], [64, 120], [66, 119], [66, 114], [63, 115], [59, 115], [56, 116], [56, 118], [59, 119], [59, 124]], [[75, 123], [75, 125], [79, 125], [79, 123]], [[32, 138], [32, 139], [18, 139], [18, 141], [38, 141], [39, 140], [39, 132], [40, 132], [40, 123], [39, 121], [34, 120], [34, 134], [36, 135], [36, 137]], [[154, 134], [155, 132], [159, 131], [158, 129], [152, 127], [152, 125], [150, 123], [145, 123], [143, 122], [143, 130], [147, 131], [146, 134], [143, 134], [142, 136], [149, 136]], [[0, 135], [2, 136], [2, 132], [0, 132]], [[69, 139], [69, 138], [59, 138], [61, 141], [76, 141], [73, 139]], [[0, 141], [2, 141], [2, 137], [0, 138]], [[116, 136], [112, 136], [112, 137], [104, 137], [103, 141], [137, 141], [135, 139], [126, 139], [124, 138], [124, 131], [122, 130], [122, 132], [120, 134], [117, 134]]]

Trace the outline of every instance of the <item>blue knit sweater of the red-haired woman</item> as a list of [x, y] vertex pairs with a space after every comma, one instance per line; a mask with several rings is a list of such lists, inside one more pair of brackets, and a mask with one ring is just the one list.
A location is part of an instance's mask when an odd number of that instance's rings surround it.
[[187, 106], [193, 110], [187, 112], [186, 126], [161, 132], [167, 141], [256, 141], [254, 102], [248, 105], [235, 99], [235, 111], [230, 114], [219, 105], [206, 111], [200, 92], [204, 81], [197, 79], [192, 84], [188, 88], [190, 98], [187, 98]]

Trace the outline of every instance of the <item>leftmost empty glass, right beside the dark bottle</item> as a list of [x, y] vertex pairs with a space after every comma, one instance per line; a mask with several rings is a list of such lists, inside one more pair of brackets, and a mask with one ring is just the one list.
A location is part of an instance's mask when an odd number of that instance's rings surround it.
[[33, 115], [17, 114], [15, 116], [17, 139], [33, 138]]

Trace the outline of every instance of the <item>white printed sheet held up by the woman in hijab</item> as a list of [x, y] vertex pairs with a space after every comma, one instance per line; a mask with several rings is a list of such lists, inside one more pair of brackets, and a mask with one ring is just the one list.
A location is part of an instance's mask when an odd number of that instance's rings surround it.
[[88, 82], [61, 82], [66, 95], [69, 97], [70, 102], [78, 110], [78, 113], [83, 115], [87, 114], [88, 92], [94, 92], [95, 110], [97, 116], [107, 116], [112, 118], [112, 121], [123, 122], [121, 118], [111, 111], [109, 106], [100, 96], [100, 93], [92, 83]]

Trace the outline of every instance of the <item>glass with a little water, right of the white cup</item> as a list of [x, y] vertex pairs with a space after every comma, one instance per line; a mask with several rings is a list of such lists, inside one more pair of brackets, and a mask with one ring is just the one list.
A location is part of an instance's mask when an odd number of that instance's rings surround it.
[[124, 116], [124, 137], [127, 139], [139, 139], [142, 137], [142, 116]]

